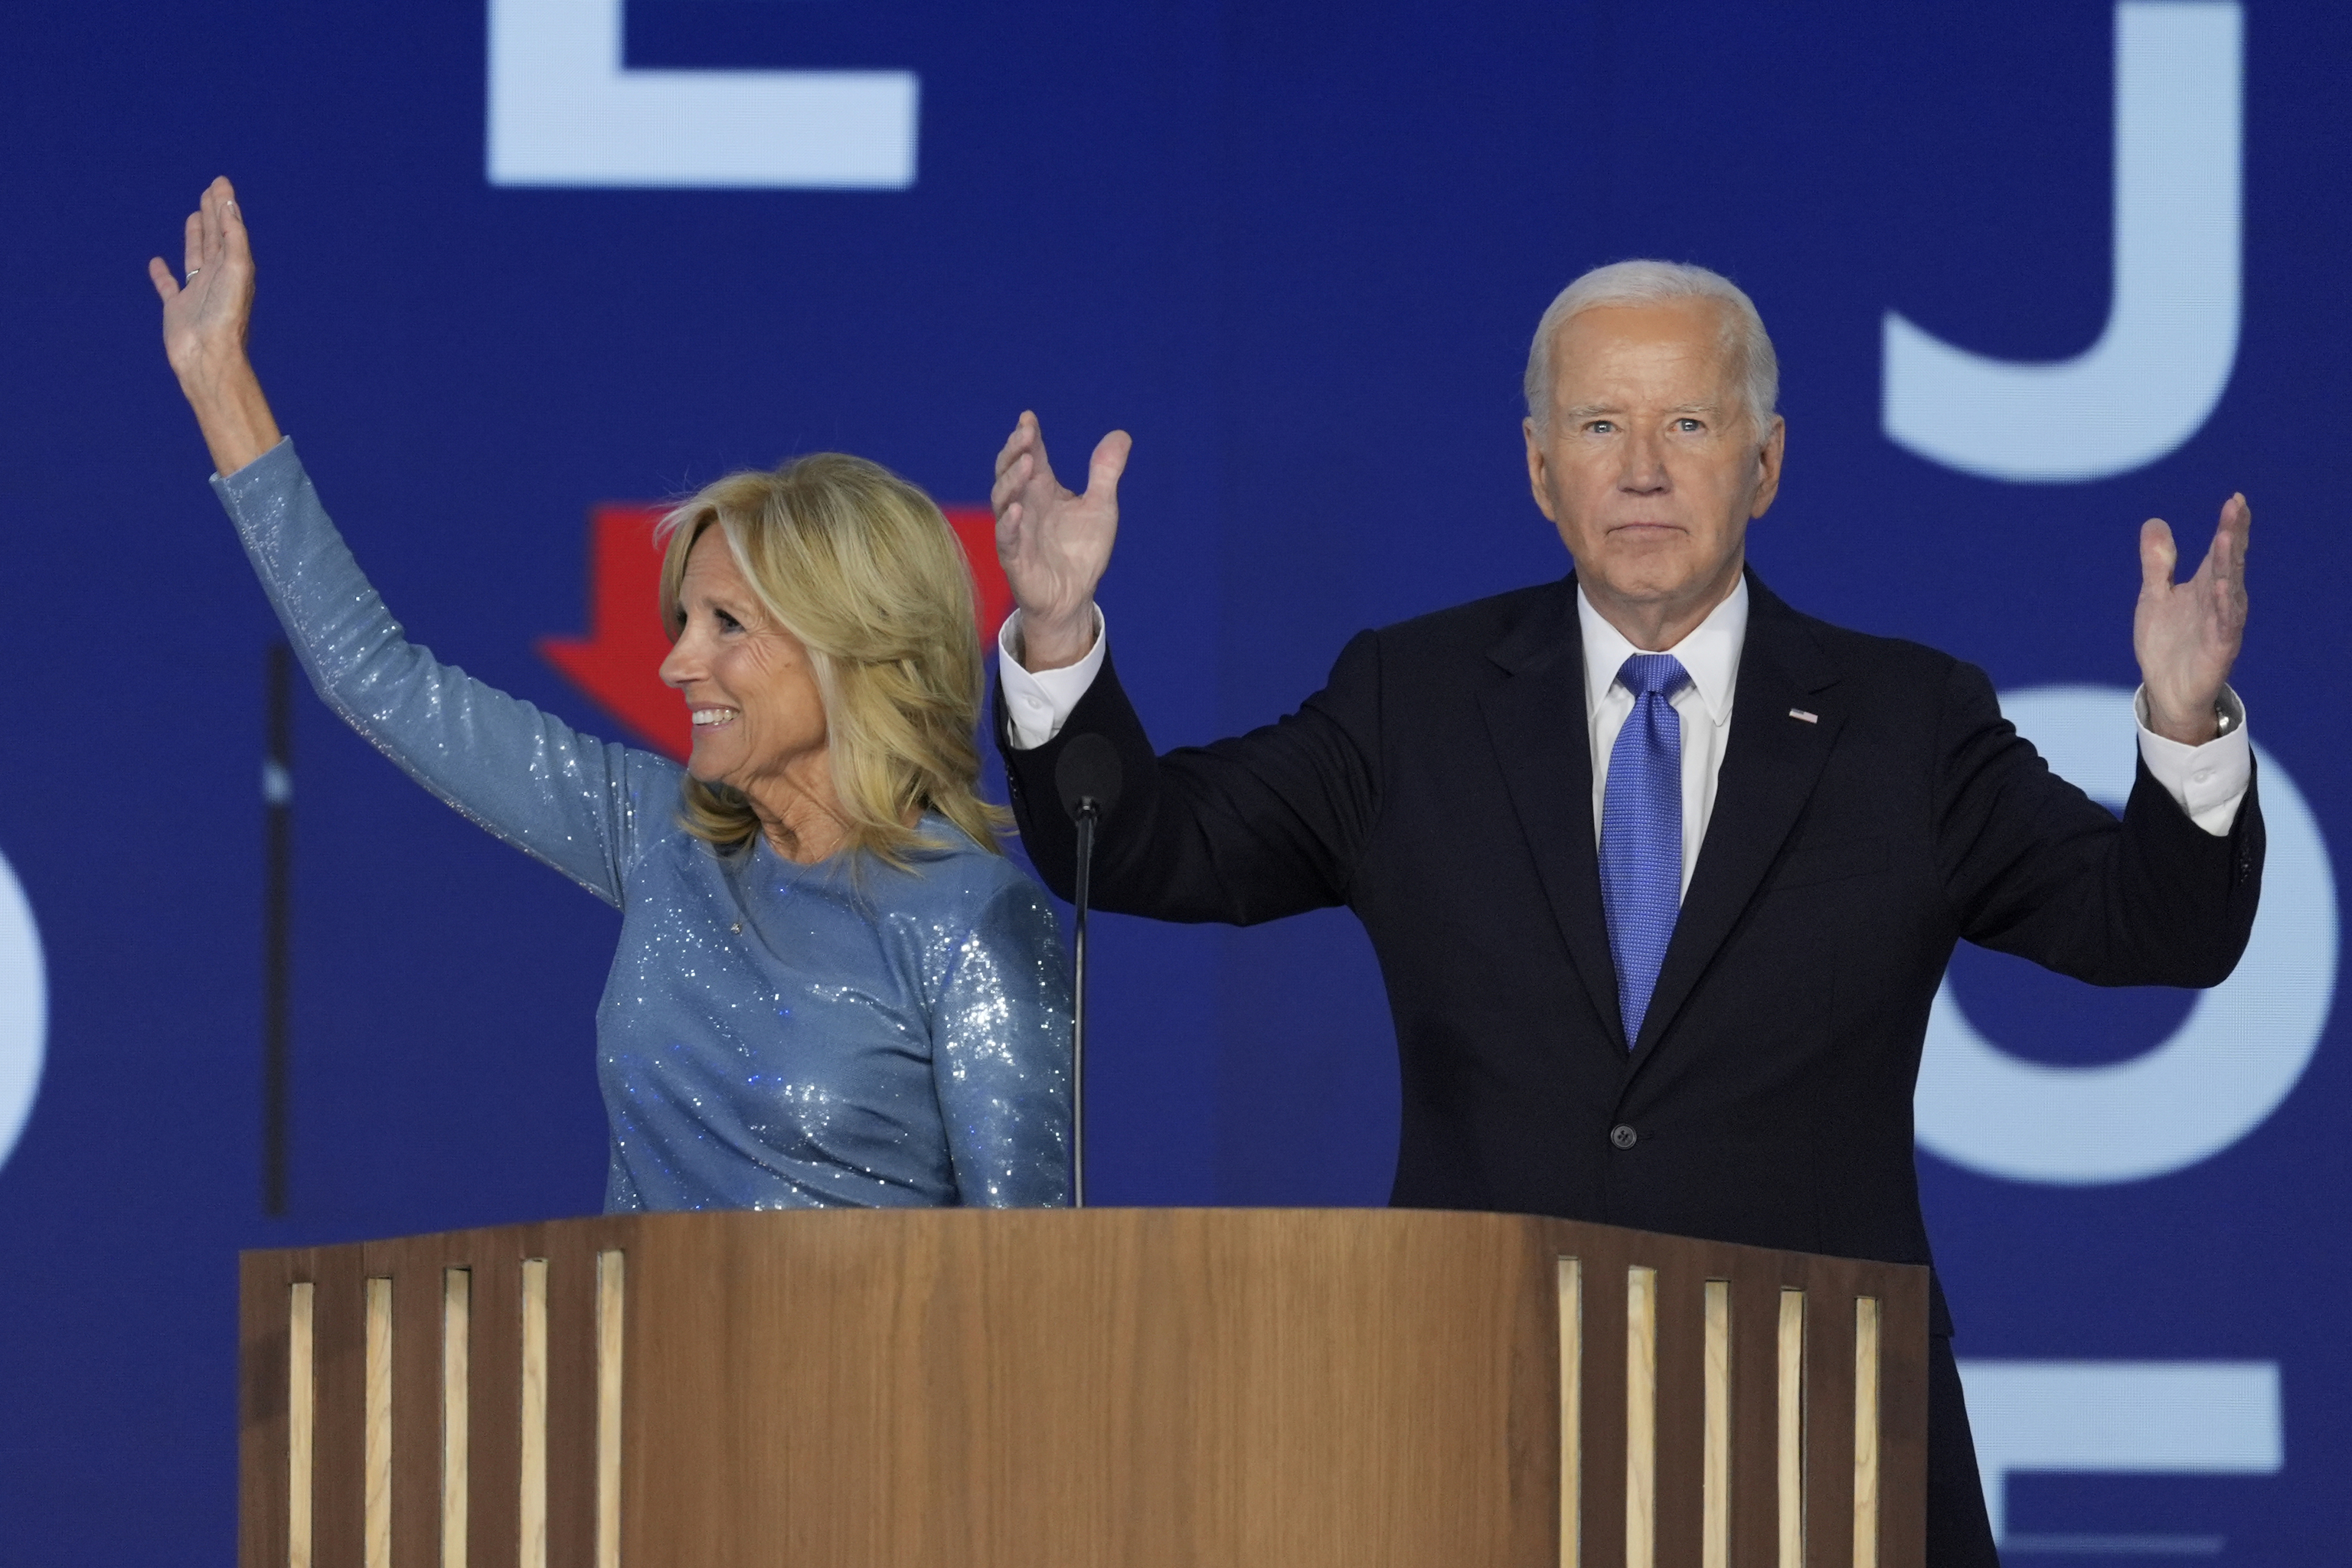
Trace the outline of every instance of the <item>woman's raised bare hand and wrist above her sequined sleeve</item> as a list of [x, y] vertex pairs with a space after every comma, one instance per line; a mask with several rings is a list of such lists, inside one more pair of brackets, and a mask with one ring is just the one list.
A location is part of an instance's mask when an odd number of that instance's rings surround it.
[[261, 383], [245, 357], [245, 329], [254, 315], [254, 249], [228, 179], [205, 188], [188, 214], [183, 282], [172, 280], [162, 256], [148, 261], [148, 277], [162, 299], [162, 350], [179, 376], [179, 390], [195, 409], [212, 463], [235, 473], [278, 444], [278, 421], [261, 397]]

